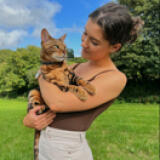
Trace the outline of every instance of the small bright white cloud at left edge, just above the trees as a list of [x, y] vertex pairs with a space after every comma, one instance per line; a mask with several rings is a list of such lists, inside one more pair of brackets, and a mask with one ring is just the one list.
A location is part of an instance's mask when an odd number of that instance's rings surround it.
[[23, 30], [14, 30], [11, 32], [4, 32], [0, 30], [0, 48], [16, 47], [23, 36], [26, 36], [27, 32]]

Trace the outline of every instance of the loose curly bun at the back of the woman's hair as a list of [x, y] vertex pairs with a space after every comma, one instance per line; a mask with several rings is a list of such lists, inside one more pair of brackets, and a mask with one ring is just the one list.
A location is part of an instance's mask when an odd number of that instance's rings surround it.
[[133, 25], [130, 32], [130, 40], [128, 41], [129, 43], [132, 43], [137, 39], [138, 34], [143, 28], [144, 21], [140, 17], [132, 17], [132, 23]]

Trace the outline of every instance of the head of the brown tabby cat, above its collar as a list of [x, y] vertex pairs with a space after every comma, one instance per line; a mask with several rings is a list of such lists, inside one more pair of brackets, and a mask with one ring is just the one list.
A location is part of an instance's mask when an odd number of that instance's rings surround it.
[[66, 58], [66, 45], [63, 35], [59, 39], [51, 37], [46, 29], [41, 31], [41, 60], [45, 62], [62, 62]]

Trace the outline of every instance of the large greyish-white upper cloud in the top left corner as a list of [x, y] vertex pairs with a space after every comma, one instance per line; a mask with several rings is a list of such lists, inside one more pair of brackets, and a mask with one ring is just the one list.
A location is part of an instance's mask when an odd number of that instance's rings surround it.
[[58, 3], [47, 0], [5, 0], [0, 6], [0, 26], [21, 29], [54, 26], [51, 19], [61, 9]]

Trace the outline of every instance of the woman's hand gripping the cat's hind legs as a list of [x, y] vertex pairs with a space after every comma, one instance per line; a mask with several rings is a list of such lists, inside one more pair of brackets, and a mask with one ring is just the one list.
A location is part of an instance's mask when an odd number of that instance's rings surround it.
[[49, 110], [41, 115], [37, 115], [36, 112], [41, 109], [41, 106], [37, 106], [31, 109], [24, 117], [23, 124], [26, 127], [42, 130], [53, 122], [56, 117], [56, 113]]

